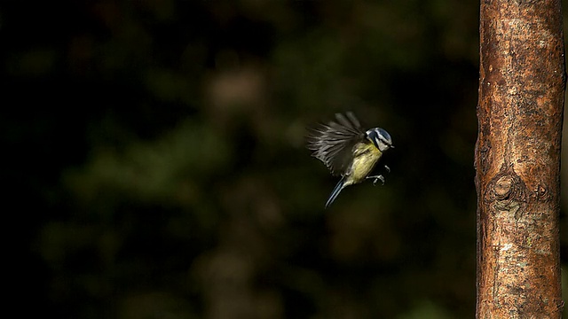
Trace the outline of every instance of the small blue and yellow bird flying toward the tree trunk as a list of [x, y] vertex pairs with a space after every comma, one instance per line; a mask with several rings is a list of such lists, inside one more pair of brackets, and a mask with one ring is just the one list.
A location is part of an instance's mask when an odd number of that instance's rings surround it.
[[[365, 131], [351, 112], [335, 114], [336, 121], [313, 128], [307, 139], [307, 148], [312, 156], [321, 160], [332, 175], [341, 175], [341, 180], [327, 199], [326, 208], [347, 186], [361, 183], [366, 179], [380, 180], [383, 175], [369, 176], [383, 152], [392, 146], [389, 133], [383, 128]], [[387, 171], [390, 168], [385, 165]]]

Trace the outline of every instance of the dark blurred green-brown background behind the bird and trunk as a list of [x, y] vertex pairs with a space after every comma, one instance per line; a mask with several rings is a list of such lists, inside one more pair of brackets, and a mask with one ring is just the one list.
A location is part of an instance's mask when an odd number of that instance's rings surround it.
[[[2, 2], [18, 314], [473, 317], [478, 5]], [[324, 210], [305, 128], [349, 110], [391, 172]]]

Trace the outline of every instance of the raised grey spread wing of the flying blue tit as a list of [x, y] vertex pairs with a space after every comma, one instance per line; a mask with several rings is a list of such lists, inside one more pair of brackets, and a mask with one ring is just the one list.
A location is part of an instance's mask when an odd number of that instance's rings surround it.
[[336, 121], [312, 128], [307, 148], [321, 160], [333, 175], [345, 175], [351, 162], [351, 150], [365, 137], [359, 120], [351, 112], [335, 114]]

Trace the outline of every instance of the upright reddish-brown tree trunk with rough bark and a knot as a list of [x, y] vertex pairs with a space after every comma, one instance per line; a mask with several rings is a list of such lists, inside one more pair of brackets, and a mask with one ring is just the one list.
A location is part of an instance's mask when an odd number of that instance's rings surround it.
[[477, 318], [560, 318], [560, 0], [482, 0]]

